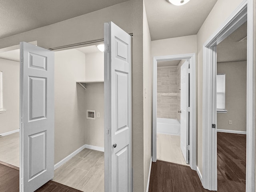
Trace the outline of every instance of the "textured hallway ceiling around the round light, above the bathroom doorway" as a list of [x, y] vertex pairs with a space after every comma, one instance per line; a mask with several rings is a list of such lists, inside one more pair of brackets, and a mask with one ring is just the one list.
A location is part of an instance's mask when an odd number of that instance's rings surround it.
[[190, 0], [175, 6], [166, 0], [145, 0], [152, 40], [197, 34], [217, 0]]

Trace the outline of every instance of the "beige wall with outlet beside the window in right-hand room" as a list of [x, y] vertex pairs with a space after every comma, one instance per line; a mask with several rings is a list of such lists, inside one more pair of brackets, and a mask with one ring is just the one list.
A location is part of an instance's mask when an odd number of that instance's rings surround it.
[[[227, 113], [217, 114], [217, 129], [246, 131], [247, 62], [217, 63], [217, 74], [226, 74]], [[232, 125], [228, 121], [232, 120]]]

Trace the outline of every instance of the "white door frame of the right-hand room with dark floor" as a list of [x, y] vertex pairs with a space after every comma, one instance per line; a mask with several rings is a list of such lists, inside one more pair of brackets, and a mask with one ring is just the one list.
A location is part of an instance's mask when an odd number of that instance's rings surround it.
[[[244, 0], [203, 46], [203, 172], [202, 185], [217, 190], [216, 128], [216, 45], [247, 20], [247, 117], [246, 117], [246, 192], [255, 190], [256, 66], [253, 34], [253, 0]], [[255, 6], [255, 5], [254, 5]]]

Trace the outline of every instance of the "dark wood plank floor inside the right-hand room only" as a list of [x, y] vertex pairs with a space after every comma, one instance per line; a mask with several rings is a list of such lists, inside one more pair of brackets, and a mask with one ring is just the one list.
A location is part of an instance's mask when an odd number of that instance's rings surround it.
[[218, 189], [245, 192], [246, 135], [217, 133]]

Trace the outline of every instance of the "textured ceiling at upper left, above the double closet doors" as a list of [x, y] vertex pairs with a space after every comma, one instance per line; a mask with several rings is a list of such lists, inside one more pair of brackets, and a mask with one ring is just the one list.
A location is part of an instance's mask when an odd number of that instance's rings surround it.
[[0, 39], [128, 0], [0, 0]]

